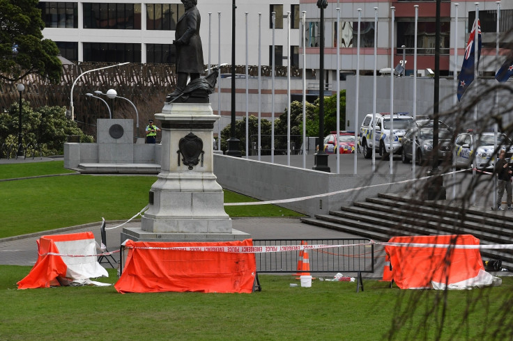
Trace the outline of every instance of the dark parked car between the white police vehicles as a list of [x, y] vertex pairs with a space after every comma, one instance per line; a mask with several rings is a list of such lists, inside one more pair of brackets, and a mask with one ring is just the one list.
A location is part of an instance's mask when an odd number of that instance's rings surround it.
[[[413, 134], [415, 133], [415, 161], [422, 165], [433, 159], [433, 128], [410, 128], [401, 141], [401, 160], [408, 164], [413, 159]], [[451, 131], [438, 129], [438, 160], [452, 160]]]

